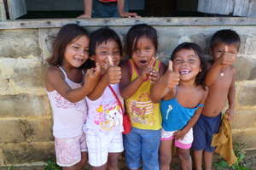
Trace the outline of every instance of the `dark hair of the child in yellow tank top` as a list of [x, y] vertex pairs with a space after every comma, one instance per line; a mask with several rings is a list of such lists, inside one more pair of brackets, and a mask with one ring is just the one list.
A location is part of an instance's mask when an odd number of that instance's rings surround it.
[[147, 24], [138, 24], [131, 27], [125, 38], [125, 51], [129, 57], [131, 57], [132, 52], [135, 50], [135, 48], [137, 48], [137, 41], [141, 37], [147, 37], [148, 39], [150, 39], [154, 44], [155, 50], [157, 51], [158, 37], [156, 30], [152, 26], [148, 26]]

